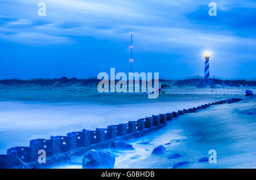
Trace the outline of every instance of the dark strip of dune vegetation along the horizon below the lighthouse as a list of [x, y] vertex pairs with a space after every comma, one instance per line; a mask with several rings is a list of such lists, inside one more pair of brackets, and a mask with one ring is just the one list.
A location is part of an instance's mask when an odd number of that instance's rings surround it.
[[[20, 80], [20, 79], [5, 79], [0, 80], [0, 85], [6, 86], [23, 86], [23, 87], [30, 87], [34, 85], [40, 86], [53, 86], [53, 87], [63, 87], [69, 85], [77, 85], [77, 86], [86, 86], [92, 85], [95, 86], [100, 82], [100, 80], [96, 78], [90, 79], [76, 79], [76, 78], [60, 78], [60, 79], [31, 79], [31, 80]], [[116, 80], [118, 82], [118, 80]], [[200, 79], [200, 78], [193, 78], [193, 79], [184, 79], [184, 80], [164, 80], [159, 79], [159, 82], [162, 83], [162, 87], [197, 87], [197, 88], [219, 88], [219, 87], [256, 87], [255, 80], [222, 80], [222, 79]], [[141, 82], [140, 82], [141, 83]], [[154, 81], [153, 81], [154, 83]]]

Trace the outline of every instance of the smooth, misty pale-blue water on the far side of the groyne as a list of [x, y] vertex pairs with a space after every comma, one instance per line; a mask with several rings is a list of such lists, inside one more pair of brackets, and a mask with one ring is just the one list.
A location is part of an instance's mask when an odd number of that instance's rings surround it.
[[89, 102], [0, 101], [0, 153], [29, 146], [31, 139], [67, 135], [83, 128], [95, 130], [136, 121], [152, 114], [192, 108], [206, 101], [172, 101], [147, 104], [92, 104]]

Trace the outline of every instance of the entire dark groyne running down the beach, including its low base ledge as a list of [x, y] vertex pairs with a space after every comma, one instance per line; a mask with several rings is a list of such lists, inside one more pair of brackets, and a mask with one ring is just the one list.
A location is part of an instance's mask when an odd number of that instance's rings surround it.
[[[117, 140], [138, 138], [158, 130], [166, 125], [167, 121], [185, 113], [195, 113], [212, 105], [227, 103], [229, 100], [216, 101], [209, 104], [178, 110], [177, 112], [152, 115], [110, 125], [107, 128], [96, 128], [95, 131], [82, 130], [68, 132], [67, 136], [51, 136], [50, 139], [32, 139], [29, 147], [12, 147], [7, 149], [6, 155], [0, 155], [0, 168], [52, 168], [65, 163], [70, 156], [83, 155], [90, 149], [109, 148]], [[42, 150], [46, 152], [46, 163], [38, 161]]]

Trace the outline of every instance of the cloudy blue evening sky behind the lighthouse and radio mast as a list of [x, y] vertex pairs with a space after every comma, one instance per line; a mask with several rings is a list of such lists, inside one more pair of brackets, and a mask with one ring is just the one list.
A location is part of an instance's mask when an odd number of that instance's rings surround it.
[[255, 19], [248, 0], [1, 0], [0, 79], [128, 74], [130, 32], [133, 72], [203, 76], [209, 49], [211, 77], [255, 79]]

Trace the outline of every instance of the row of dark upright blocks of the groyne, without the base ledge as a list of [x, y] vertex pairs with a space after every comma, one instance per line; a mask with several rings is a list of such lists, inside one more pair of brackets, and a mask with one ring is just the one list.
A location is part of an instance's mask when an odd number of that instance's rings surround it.
[[58, 153], [71, 151], [72, 149], [87, 147], [92, 144], [103, 143], [106, 140], [113, 140], [117, 137], [123, 137], [137, 131], [147, 130], [154, 126], [160, 126], [172, 118], [177, 118], [184, 113], [197, 112], [210, 105], [222, 104], [225, 101], [212, 102], [198, 106], [192, 109], [183, 109], [178, 112], [167, 114], [152, 115], [138, 121], [129, 121], [119, 125], [110, 125], [108, 128], [96, 128], [96, 131], [82, 130], [78, 132], [69, 132], [67, 136], [51, 136], [51, 139], [33, 139], [30, 140], [30, 147], [13, 147], [7, 149], [7, 155], [0, 155], [0, 168], [8, 168], [19, 164], [18, 157], [23, 162], [38, 160], [38, 151], [44, 149], [47, 156], [53, 156]]

